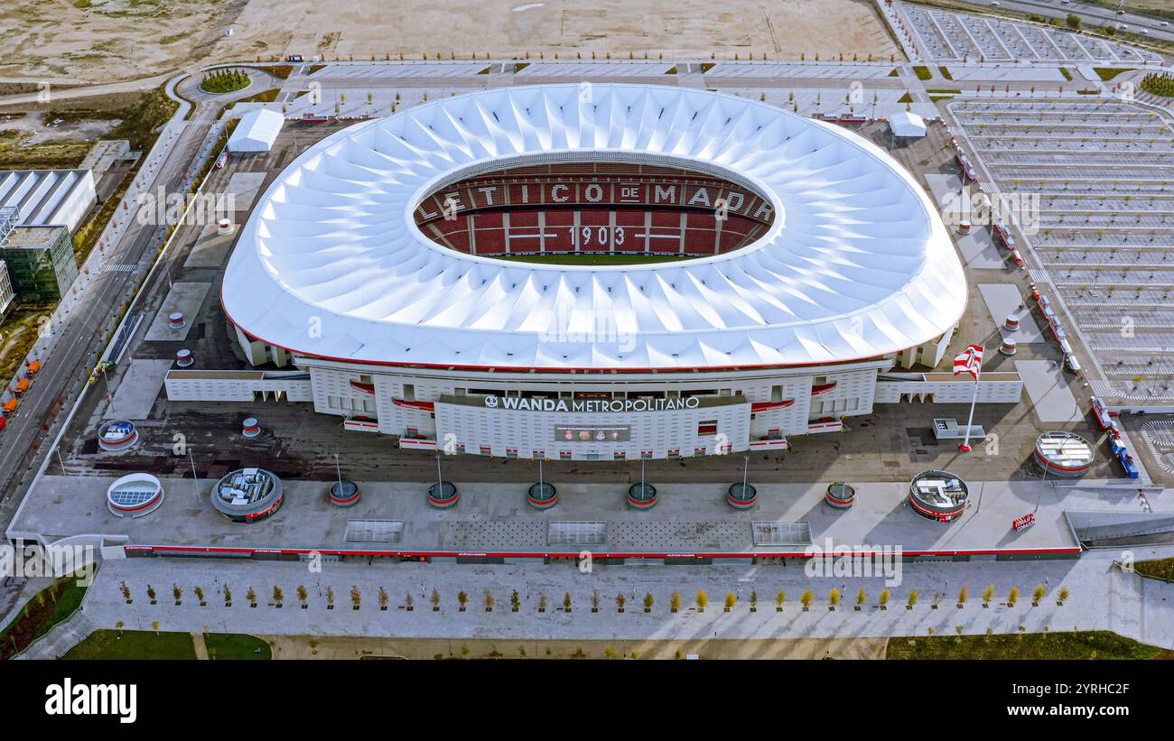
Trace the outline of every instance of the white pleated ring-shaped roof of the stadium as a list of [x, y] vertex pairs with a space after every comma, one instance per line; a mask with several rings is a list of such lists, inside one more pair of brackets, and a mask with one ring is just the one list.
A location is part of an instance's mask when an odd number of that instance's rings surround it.
[[[460, 253], [413, 220], [463, 175], [596, 158], [753, 184], [774, 224], [714, 257], [568, 266]], [[703, 90], [583, 83], [444, 98], [315, 144], [254, 209], [222, 302], [321, 358], [636, 370], [885, 355], [949, 331], [966, 287], [925, 192], [863, 138]], [[616, 331], [595, 336], [601, 318]]]

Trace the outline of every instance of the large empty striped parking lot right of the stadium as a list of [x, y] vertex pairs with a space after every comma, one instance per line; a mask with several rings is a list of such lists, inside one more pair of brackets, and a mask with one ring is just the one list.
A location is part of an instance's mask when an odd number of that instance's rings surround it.
[[949, 109], [1000, 193], [1039, 197], [1023, 237], [1094, 361], [1094, 393], [1174, 400], [1169, 117], [1107, 98]]

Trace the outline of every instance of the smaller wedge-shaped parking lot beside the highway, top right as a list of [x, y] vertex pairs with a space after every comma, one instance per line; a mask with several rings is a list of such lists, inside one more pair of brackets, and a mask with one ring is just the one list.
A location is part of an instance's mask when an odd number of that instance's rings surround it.
[[[900, 25], [933, 61], [1127, 62], [1161, 57], [1143, 49], [1034, 23], [1003, 21], [903, 4]], [[898, 15], [900, 18], [900, 15]]]

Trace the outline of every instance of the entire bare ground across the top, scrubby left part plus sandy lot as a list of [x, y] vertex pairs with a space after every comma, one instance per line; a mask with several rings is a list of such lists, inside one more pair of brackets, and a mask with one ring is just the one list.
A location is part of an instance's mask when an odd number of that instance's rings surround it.
[[[231, 28], [232, 35], [225, 32]], [[868, 0], [15, 0], [0, 82], [101, 83], [301, 54], [845, 59], [900, 54]]]

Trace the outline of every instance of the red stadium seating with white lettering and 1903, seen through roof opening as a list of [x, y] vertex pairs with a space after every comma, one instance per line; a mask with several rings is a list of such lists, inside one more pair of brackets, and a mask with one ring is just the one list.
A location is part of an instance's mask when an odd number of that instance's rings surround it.
[[[453, 220], [445, 219], [450, 195], [458, 206]], [[718, 220], [721, 203], [730, 208]], [[708, 256], [737, 250], [762, 234], [770, 223], [769, 212], [760, 212], [762, 203], [747, 189], [679, 168], [558, 163], [453, 184], [426, 198], [416, 220], [437, 242], [461, 252], [472, 245], [477, 254]]]

